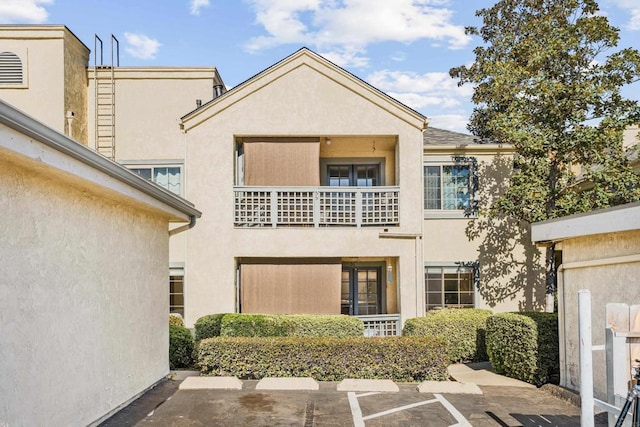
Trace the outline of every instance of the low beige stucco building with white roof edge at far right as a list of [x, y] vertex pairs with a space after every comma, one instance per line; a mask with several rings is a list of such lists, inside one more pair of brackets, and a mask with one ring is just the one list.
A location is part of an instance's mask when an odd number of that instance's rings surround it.
[[[555, 242], [562, 251], [558, 268], [560, 385], [578, 390], [578, 291], [591, 293], [592, 343], [602, 349], [606, 305], [640, 304], [640, 203], [536, 223], [532, 239], [540, 245]], [[637, 331], [640, 318], [632, 316], [630, 321]], [[622, 327], [618, 330], [624, 330]], [[631, 360], [640, 357], [637, 344], [631, 350], [635, 350], [630, 352]], [[593, 352], [593, 375], [595, 396], [606, 401], [605, 351]]]

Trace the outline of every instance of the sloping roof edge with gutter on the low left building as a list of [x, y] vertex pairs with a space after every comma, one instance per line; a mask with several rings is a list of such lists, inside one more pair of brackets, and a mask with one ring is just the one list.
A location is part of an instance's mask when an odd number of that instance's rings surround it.
[[[195, 209], [191, 202], [138, 176], [119, 163], [51, 129], [2, 100], [0, 100], [0, 124], [41, 144], [40, 148], [34, 149], [32, 146], [20, 144], [12, 138], [2, 138], [0, 139], [0, 149], [7, 149], [23, 157], [32, 158], [43, 165], [54, 167], [70, 175], [85, 177], [85, 175], [81, 176], [81, 168], [78, 164], [69, 161], [69, 158], [72, 158], [80, 162], [83, 167], [90, 168], [88, 170], [91, 173], [84, 178], [87, 181], [108, 188], [107, 181], [104, 179], [106, 175], [115, 180], [111, 182], [118, 183], [119, 190], [116, 191], [127, 197], [133, 197], [147, 205], [160, 207], [173, 215], [180, 214], [180, 217], [199, 218], [201, 216], [201, 212]], [[59, 161], [47, 156], [45, 150], [41, 148], [42, 146], [57, 153], [56, 156], [63, 160]], [[123, 191], [123, 188], [126, 191]], [[137, 193], [131, 190], [136, 190]]]

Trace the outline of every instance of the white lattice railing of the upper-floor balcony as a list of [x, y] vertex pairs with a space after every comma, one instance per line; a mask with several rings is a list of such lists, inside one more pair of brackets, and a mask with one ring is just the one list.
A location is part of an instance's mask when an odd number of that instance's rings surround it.
[[234, 187], [236, 227], [393, 226], [399, 187]]

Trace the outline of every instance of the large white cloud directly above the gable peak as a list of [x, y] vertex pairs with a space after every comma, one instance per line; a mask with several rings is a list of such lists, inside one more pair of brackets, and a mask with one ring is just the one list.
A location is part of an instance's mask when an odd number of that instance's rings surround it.
[[[266, 34], [246, 44], [250, 52], [296, 43], [336, 52], [342, 60], [365, 63], [372, 43], [445, 41], [449, 48], [471, 40], [451, 23], [445, 0], [249, 0]], [[347, 62], [343, 65], [352, 65]]]

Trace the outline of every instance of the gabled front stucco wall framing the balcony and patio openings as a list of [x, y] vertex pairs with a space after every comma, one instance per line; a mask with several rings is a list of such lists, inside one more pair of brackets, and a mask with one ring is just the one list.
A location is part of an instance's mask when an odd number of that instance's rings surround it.
[[397, 140], [394, 181], [401, 193], [400, 226], [390, 231], [421, 233], [421, 197], [416, 197], [422, 191], [421, 129], [399, 118], [396, 106], [385, 109], [367, 100], [359, 94], [362, 87], [333, 69], [301, 62], [270, 70], [278, 76], [265, 77], [268, 84], [258, 80], [229, 93], [229, 101], [222, 101], [215, 115], [187, 131], [186, 197], [205, 213], [197, 233], [188, 235], [187, 323], [205, 314], [235, 311], [238, 257], [397, 258], [403, 318], [416, 316], [423, 306], [417, 272], [422, 270], [417, 265], [422, 245], [412, 239], [381, 239], [381, 227], [234, 228], [236, 136], [385, 135]]

